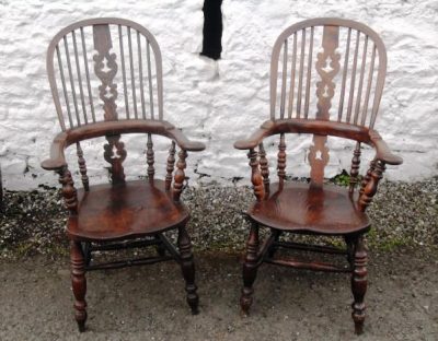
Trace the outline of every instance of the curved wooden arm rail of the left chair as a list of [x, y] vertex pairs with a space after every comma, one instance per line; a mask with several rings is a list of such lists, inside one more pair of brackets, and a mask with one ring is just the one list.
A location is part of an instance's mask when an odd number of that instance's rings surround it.
[[47, 170], [59, 170], [66, 166], [64, 151], [72, 143], [92, 138], [132, 132], [154, 133], [170, 138], [186, 151], [198, 152], [205, 150], [204, 143], [188, 140], [181, 130], [168, 121], [151, 119], [106, 121], [60, 132], [51, 143], [50, 157], [42, 163], [42, 167]]

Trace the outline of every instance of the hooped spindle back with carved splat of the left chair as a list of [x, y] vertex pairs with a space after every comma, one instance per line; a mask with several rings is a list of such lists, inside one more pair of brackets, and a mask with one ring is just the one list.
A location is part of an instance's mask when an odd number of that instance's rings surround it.
[[[100, 121], [163, 119], [161, 51], [152, 34], [135, 22], [102, 17], [67, 26], [48, 47], [47, 73], [64, 131]], [[111, 178], [114, 184], [124, 181], [124, 143], [118, 134], [106, 140]], [[148, 175], [153, 178], [148, 153]], [[79, 144], [78, 163], [87, 190]]]

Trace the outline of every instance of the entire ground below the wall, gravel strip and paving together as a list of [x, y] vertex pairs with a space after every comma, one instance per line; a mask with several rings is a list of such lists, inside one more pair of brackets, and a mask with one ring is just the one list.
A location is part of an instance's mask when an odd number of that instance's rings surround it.
[[[239, 315], [246, 187], [188, 187], [200, 315], [175, 263], [88, 274], [89, 329], [72, 320], [58, 190], [5, 192], [0, 340], [438, 340], [438, 178], [382, 183], [371, 209], [368, 315], [353, 334], [348, 275], [263, 266]], [[336, 244], [335, 239], [324, 243]]]

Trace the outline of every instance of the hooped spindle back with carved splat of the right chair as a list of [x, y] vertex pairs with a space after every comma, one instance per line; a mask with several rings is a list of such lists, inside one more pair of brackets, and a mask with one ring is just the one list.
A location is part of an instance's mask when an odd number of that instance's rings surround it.
[[[270, 119], [332, 120], [372, 129], [385, 71], [384, 45], [368, 26], [335, 17], [297, 23], [274, 45]], [[312, 96], [314, 93], [316, 96]], [[312, 186], [323, 184], [328, 163], [326, 142], [323, 129], [313, 136], [308, 154]], [[359, 164], [357, 144], [351, 160], [351, 192]]]

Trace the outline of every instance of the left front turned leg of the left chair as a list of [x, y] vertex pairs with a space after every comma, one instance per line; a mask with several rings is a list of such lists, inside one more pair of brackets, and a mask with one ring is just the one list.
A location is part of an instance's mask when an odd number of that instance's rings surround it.
[[80, 332], [85, 330], [87, 321], [87, 279], [85, 258], [79, 242], [70, 242], [71, 285], [74, 295], [74, 318]]

